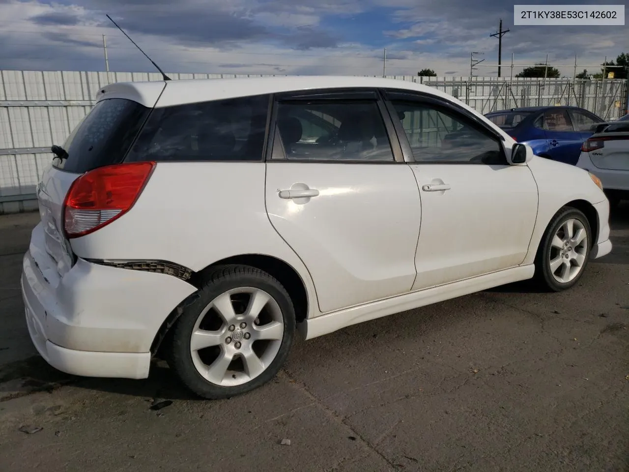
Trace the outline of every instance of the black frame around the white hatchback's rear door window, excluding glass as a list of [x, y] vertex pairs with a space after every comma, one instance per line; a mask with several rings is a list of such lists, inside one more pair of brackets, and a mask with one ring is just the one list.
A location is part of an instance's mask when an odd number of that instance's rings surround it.
[[[279, 130], [277, 128], [277, 109], [281, 102], [293, 102], [299, 103], [303, 101], [308, 102], [323, 102], [323, 103], [335, 103], [335, 102], [364, 102], [375, 101], [377, 108], [380, 112], [382, 121], [384, 123], [384, 130], [387, 138], [389, 139], [389, 145], [393, 155], [392, 160], [337, 160], [337, 159], [288, 159], [284, 144], [279, 139]], [[331, 89], [313, 89], [308, 91], [298, 92], [282, 92], [274, 94], [271, 118], [270, 118], [270, 130], [273, 133], [269, 133], [268, 146], [265, 152], [265, 162], [296, 162], [301, 164], [404, 164], [404, 155], [400, 147], [397, 133], [395, 132], [394, 123], [391, 121], [391, 117], [386, 109], [384, 101], [379, 93], [379, 90], [373, 87], [355, 87], [355, 88], [331, 88]], [[276, 148], [276, 139], [281, 145], [281, 148]], [[282, 155], [281, 158], [277, 155]]]

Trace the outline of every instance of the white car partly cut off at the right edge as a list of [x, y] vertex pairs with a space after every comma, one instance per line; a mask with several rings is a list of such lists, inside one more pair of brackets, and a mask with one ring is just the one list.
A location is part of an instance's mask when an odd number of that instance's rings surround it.
[[587, 138], [577, 166], [601, 179], [612, 206], [629, 199], [629, 115]]

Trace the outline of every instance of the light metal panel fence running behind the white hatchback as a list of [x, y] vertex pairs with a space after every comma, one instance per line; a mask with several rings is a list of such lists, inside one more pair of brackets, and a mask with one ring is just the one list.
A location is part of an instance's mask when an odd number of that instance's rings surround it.
[[[173, 80], [272, 77], [168, 72]], [[387, 76], [421, 82], [487, 113], [517, 106], [576, 105], [616, 118], [627, 103], [626, 81], [510, 77]], [[0, 214], [36, 208], [35, 186], [52, 155], [86, 116], [97, 91], [113, 82], [160, 81], [158, 72], [0, 70]]]

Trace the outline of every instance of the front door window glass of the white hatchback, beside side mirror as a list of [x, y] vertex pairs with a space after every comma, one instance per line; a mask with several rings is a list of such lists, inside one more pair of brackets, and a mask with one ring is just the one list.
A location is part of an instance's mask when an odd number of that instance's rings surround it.
[[416, 162], [506, 164], [501, 143], [454, 112], [394, 101]]

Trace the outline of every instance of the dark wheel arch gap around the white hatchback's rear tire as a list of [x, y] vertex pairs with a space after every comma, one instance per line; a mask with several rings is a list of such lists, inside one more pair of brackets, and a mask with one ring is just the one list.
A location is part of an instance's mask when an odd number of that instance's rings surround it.
[[[238, 256], [226, 257], [225, 259], [213, 262], [200, 271], [192, 274], [189, 282], [196, 288], [200, 288], [209, 271], [216, 266], [223, 266], [227, 264], [256, 267], [257, 269], [260, 269], [277, 279], [291, 297], [295, 310], [295, 321], [298, 323], [303, 322], [306, 318], [308, 318], [308, 310], [312, 303], [315, 303], [314, 306], [316, 306], [316, 301], [309, 299], [308, 289], [306, 288], [303, 277], [298, 273], [298, 271], [296, 271], [296, 269], [294, 269], [294, 267], [286, 261], [282, 261], [277, 257], [267, 256], [265, 254], [240, 254]], [[177, 322], [177, 319], [181, 316], [186, 306], [191, 305], [191, 303], [196, 300], [197, 296], [197, 291], [187, 296], [187, 298], [182, 300], [181, 303], [179, 303], [179, 305], [170, 312], [168, 317], [166, 317], [153, 339], [150, 351], [153, 356], [160, 352], [160, 347], [167, 344], [164, 340], [169, 337], [170, 333], [172, 333], [171, 328], [174, 326], [175, 322]], [[315, 295], [313, 294], [313, 296]]]

